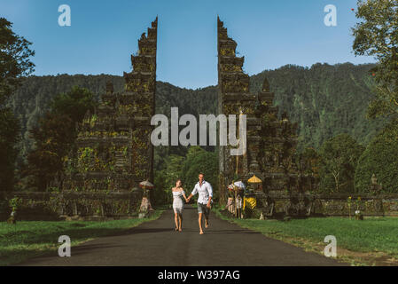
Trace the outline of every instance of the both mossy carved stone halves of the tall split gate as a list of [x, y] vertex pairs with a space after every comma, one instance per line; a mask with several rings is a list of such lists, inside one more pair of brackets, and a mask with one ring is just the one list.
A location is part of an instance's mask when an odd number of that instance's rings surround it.
[[[138, 40], [137, 54], [131, 55], [133, 70], [124, 73], [125, 91], [116, 93], [113, 84], [107, 83], [101, 105], [94, 114], [87, 112], [83, 122], [76, 125], [77, 150], [66, 159], [69, 170], [61, 186], [64, 193], [128, 193], [134, 192], [144, 179], [153, 182], [151, 118], [155, 110], [157, 31], [156, 18]], [[225, 190], [236, 173], [243, 180], [254, 174], [260, 177], [261, 193], [303, 191], [314, 183], [299, 177], [294, 168], [297, 124], [290, 123], [286, 115], [277, 118], [278, 109], [272, 106], [274, 94], [269, 91], [267, 79], [260, 92], [250, 91], [250, 78], [242, 70], [244, 57], [236, 56], [236, 47], [217, 19], [218, 113], [247, 117], [246, 154], [231, 156], [230, 146], [219, 146], [220, 201], [225, 202]], [[139, 198], [138, 195], [129, 196]], [[97, 207], [103, 212], [109, 207], [105, 201], [82, 202], [85, 212], [98, 211]], [[135, 201], [125, 202], [120, 205], [121, 210], [130, 208]]]

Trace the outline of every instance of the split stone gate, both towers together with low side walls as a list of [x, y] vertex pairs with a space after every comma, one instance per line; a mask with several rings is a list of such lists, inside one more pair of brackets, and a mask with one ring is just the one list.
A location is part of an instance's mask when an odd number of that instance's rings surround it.
[[[112, 83], [107, 83], [100, 106], [76, 125], [77, 149], [66, 159], [59, 193], [12, 193], [23, 200], [28, 212], [38, 207], [64, 216], [123, 217], [137, 212], [142, 198], [138, 183], [145, 179], [153, 182], [151, 118], [155, 111], [157, 31], [158, 18], [138, 40], [137, 54], [131, 55], [133, 70], [124, 73], [125, 90], [116, 93]], [[245, 58], [236, 56], [236, 48], [237, 43], [217, 18], [218, 114], [246, 114], [247, 118], [246, 154], [232, 156], [230, 146], [218, 146], [221, 204], [225, 204], [227, 186], [237, 175], [246, 181], [255, 174], [262, 187], [253, 195], [264, 216], [350, 214], [347, 196], [308, 194], [316, 190], [318, 181], [295, 161], [297, 123], [289, 122], [286, 114], [278, 118], [267, 78], [261, 91], [250, 91], [250, 77], [242, 69]], [[373, 215], [398, 212], [396, 196], [363, 200], [367, 202], [363, 209]]]

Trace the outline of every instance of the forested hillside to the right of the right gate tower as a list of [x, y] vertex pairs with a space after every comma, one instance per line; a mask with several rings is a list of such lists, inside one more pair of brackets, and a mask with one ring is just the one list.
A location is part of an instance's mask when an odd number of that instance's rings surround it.
[[300, 146], [321, 146], [325, 139], [348, 133], [366, 145], [383, 121], [366, 119], [373, 97], [373, 64], [351, 63], [312, 67], [285, 66], [251, 77], [251, 90], [258, 91], [264, 76], [275, 92], [274, 104], [299, 123]]

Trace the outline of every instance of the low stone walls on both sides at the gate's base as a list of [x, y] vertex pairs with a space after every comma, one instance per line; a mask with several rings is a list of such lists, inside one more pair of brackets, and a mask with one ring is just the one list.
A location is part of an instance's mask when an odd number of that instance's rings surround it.
[[[92, 193], [63, 191], [59, 193], [20, 192], [5, 196], [21, 200], [19, 220], [115, 219], [137, 217], [143, 192]], [[351, 196], [351, 200], [348, 197]], [[310, 194], [251, 193], [256, 199], [252, 217], [349, 217], [359, 209], [366, 216], [398, 217], [398, 194]], [[358, 197], [360, 200], [358, 201]], [[9, 217], [11, 209], [2, 206], [0, 220]]]

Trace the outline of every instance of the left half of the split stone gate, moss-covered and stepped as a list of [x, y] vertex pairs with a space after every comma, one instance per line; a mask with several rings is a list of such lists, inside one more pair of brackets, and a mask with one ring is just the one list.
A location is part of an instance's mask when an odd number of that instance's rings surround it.
[[64, 190], [130, 191], [153, 182], [151, 118], [155, 111], [158, 18], [138, 40], [131, 55], [133, 70], [124, 73], [125, 91], [106, 93], [94, 114], [76, 125], [77, 149], [66, 159]]

